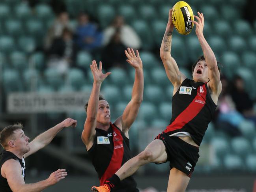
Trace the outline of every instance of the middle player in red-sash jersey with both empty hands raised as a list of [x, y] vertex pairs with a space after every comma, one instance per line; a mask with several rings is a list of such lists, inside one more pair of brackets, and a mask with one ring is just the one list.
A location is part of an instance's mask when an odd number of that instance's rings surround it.
[[[127, 62], [135, 69], [135, 80], [131, 101], [125, 107], [123, 114], [110, 122], [110, 106], [99, 93], [102, 82], [110, 74], [103, 74], [102, 64], [99, 68], [95, 60], [92, 62], [93, 87], [86, 104], [87, 118], [82, 132], [82, 141], [92, 158], [92, 164], [98, 173], [100, 184], [111, 177], [127, 160], [131, 158], [129, 149], [129, 129], [135, 121], [143, 99], [143, 70], [139, 52], [127, 48], [125, 50]], [[129, 175], [130, 176], [130, 175]], [[138, 192], [136, 182], [132, 176], [123, 179], [116, 186], [116, 192]]]

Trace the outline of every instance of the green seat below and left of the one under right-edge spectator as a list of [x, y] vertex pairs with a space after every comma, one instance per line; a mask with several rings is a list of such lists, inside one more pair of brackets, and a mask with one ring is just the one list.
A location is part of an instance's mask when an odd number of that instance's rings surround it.
[[251, 152], [250, 143], [246, 138], [232, 138], [230, 145], [235, 154], [239, 155], [240, 157], [245, 157]]

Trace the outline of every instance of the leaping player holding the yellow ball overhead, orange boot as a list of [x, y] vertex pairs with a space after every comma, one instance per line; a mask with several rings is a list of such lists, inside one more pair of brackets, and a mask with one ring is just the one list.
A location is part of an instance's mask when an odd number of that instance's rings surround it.
[[149, 162], [170, 162], [167, 192], [183, 192], [196, 166], [199, 145], [212, 119], [221, 91], [220, 73], [213, 51], [203, 35], [204, 16], [198, 12], [196, 35], [204, 57], [192, 67], [193, 79], [187, 79], [171, 57], [171, 42], [174, 24], [172, 9], [161, 44], [160, 55], [166, 75], [174, 86], [172, 119], [170, 125], [153, 140], [144, 151], [127, 161], [103, 186], [92, 187], [93, 191], [108, 192], [124, 178], [135, 173]]

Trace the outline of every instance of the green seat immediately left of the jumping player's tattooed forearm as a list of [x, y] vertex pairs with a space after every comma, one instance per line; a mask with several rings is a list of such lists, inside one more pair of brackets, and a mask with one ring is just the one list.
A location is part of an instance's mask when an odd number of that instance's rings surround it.
[[160, 47], [163, 40], [165, 29], [166, 29], [166, 22], [162, 20], [155, 20], [152, 22], [151, 25], [152, 25], [153, 38], [155, 40], [155, 44], [158, 47]]

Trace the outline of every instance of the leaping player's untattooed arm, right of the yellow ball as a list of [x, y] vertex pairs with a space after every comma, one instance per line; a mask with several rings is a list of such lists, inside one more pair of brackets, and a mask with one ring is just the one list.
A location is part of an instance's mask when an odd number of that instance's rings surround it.
[[213, 93], [219, 96], [221, 91], [220, 83], [220, 72], [218, 70], [217, 60], [215, 58], [214, 52], [204, 38], [204, 15], [203, 13], [197, 12], [198, 16], [194, 15], [197, 21], [192, 21], [196, 25], [196, 35], [202, 47], [204, 58], [209, 69], [209, 86]]

